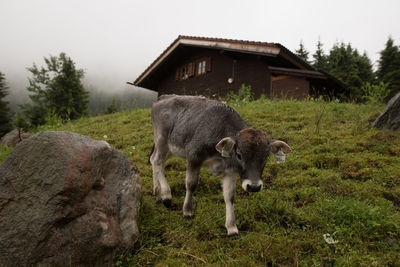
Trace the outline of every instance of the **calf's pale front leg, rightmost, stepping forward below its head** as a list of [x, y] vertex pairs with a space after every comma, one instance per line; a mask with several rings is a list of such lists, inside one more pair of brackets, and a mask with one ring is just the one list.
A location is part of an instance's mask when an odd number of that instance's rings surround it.
[[226, 206], [225, 227], [228, 231], [228, 236], [239, 234], [235, 222], [235, 213], [233, 209], [233, 202], [236, 191], [236, 175], [227, 174], [222, 180], [222, 191], [224, 194], [224, 201]]

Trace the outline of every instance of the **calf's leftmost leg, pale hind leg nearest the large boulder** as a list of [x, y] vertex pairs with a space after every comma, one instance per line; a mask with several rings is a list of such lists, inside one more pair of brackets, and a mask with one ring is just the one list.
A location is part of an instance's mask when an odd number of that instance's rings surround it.
[[171, 189], [165, 179], [164, 163], [168, 159], [169, 150], [166, 145], [161, 145], [162, 142], [157, 142], [154, 147], [153, 154], [150, 157], [150, 162], [153, 168], [153, 195], [161, 198], [165, 206], [171, 206]]

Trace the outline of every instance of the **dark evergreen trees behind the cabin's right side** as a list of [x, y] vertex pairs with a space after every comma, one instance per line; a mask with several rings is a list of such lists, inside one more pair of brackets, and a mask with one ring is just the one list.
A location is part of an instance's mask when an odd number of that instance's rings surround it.
[[325, 71], [341, 81], [346, 88], [347, 98], [364, 102], [371, 98], [387, 101], [400, 91], [400, 48], [389, 37], [379, 53], [377, 69], [366, 52], [360, 53], [350, 43], [338, 42], [329, 53], [318, 40], [314, 54], [300, 42], [295, 54], [319, 71]]

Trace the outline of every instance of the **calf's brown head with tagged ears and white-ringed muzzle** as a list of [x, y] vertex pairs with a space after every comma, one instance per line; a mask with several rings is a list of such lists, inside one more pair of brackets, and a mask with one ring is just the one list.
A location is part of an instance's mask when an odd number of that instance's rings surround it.
[[235, 137], [223, 138], [215, 148], [222, 157], [230, 159], [247, 192], [262, 189], [262, 172], [270, 153], [281, 162], [291, 152], [285, 142], [269, 140], [263, 131], [252, 128], [241, 130]]

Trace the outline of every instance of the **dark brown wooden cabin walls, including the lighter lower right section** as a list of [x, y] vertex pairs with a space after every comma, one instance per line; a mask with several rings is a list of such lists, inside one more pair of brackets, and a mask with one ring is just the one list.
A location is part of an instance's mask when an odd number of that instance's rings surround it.
[[[177, 79], [177, 70], [200, 59], [210, 59], [211, 68], [203, 75]], [[250, 85], [255, 98], [261, 94], [273, 98], [302, 99], [309, 94], [310, 83], [306, 78], [271, 75], [270, 59], [253, 54], [234, 53], [218, 49], [184, 47], [153, 77], [151, 89], [162, 94], [204, 95], [224, 97], [230, 91], [239, 92], [242, 84]], [[194, 70], [196, 71], [196, 70]], [[228, 79], [233, 78], [233, 83]]]

